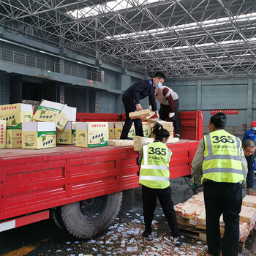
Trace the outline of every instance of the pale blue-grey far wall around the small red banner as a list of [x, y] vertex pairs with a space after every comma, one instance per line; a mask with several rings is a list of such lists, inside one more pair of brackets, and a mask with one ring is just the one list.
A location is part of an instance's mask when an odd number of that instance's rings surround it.
[[249, 126], [256, 120], [256, 80], [169, 80], [166, 84], [178, 93], [180, 110], [203, 110], [204, 125], [210, 110], [239, 110], [238, 115], [227, 115], [228, 126]]

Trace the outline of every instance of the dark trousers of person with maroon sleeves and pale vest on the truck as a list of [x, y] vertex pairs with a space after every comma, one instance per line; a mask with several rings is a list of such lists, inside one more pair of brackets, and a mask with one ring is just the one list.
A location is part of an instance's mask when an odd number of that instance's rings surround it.
[[[170, 119], [170, 121], [173, 122], [173, 127], [175, 130], [175, 133], [177, 135], [180, 134], [180, 121], [178, 119], [178, 107], [179, 107], [179, 102], [178, 99], [174, 102], [174, 116], [173, 118]], [[166, 121], [170, 113], [170, 105], [162, 105], [160, 104], [160, 109], [159, 109], [159, 116], [160, 119]]]

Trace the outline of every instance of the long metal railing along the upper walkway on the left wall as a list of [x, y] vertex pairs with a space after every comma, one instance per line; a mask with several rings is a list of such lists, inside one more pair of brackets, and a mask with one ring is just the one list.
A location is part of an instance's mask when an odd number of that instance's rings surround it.
[[0, 48], [0, 60], [11, 62], [13, 64], [18, 64], [25, 67], [35, 67], [38, 69], [43, 69], [46, 72], [57, 72], [64, 75], [71, 75], [78, 78], [85, 78], [108, 84], [107, 75], [102, 75], [97, 72], [91, 72], [86, 69], [80, 69], [78, 67], [59, 64], [58, 62], [40, 59], [35, 56], [18, 53], [4, 48]]

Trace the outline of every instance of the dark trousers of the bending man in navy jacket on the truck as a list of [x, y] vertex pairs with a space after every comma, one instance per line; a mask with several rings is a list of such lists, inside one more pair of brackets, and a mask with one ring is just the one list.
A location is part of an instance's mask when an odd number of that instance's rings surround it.
[[124, 127], [121, 132], [120, 139], [127, 140], [129, 129], [132, 127], [132, 122], [135, 124], [135, 135], [143, 137], [143, 128], [142, 128], [142, 121], [140, 118], [131, 119], [129, 118], [129, 113], [134, 112], [136, 110], [135, 102], [132, 99], [127, 99], [126, 97], [122, 97], [122, 101], [124, 104], [125, 109], [125, 117], [126, 120], [124, 122]]

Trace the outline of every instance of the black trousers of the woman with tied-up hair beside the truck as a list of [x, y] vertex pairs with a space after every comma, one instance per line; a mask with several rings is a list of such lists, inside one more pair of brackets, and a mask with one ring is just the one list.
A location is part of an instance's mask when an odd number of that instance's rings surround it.
[[165, 218], [167, 219], [170, 232], [172, 233], [173, 237], [178, 237], [178, 223], [173, 208], [170, 187], [167, 187], [166, 189], [151, 189], [145, 186], [142, 187], [143, 216], [146, 233], [152, 233], [151, 225], [154, 218], [154, 210], [157, 206], [157, 198], [162, 206], [162, 211], [165, 214]]

